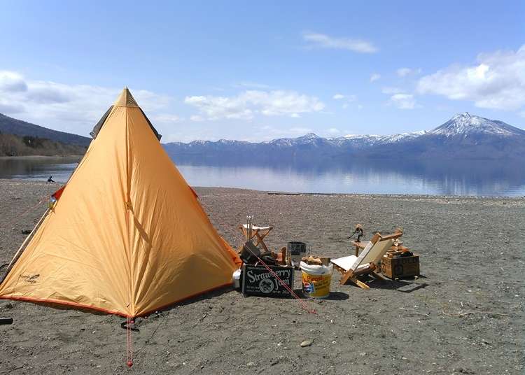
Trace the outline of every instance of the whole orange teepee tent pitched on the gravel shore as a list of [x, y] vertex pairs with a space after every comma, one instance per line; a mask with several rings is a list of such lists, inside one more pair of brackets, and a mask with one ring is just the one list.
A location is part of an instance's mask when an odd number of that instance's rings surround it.
[[127, 88], [92, 136], [0, 298], [134, 317], [230, 284], [239, 257]]

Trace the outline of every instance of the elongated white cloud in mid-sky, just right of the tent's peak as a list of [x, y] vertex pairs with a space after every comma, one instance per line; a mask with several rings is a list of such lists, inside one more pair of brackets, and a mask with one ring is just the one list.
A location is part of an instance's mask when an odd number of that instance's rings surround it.
[[197, 108], [208, 120], [251, 120], [257, 114], [297, 117], [300, 113], [318, 112], [325, 107], [316, 97], [284, 90], [247, 90], [234, 97], [193, 96], [186, 97], [184, 102]]

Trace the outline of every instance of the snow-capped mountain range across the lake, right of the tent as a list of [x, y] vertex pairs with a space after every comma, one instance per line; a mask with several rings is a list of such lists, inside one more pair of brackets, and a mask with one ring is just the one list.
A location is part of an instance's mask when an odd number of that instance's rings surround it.
[[298, 138], [250, 143], [243, 141], [193, 141], [166, 143], [167, 153], [181, 160], [316, 160], [319, 157], [348, 160], [369, 159], [514, 159], [525, 160], [525, 130], [505, 122], [469, 113], [455, 115], [428, 132], [391, 136], [347, 135], [321, 138], [307, 134]]

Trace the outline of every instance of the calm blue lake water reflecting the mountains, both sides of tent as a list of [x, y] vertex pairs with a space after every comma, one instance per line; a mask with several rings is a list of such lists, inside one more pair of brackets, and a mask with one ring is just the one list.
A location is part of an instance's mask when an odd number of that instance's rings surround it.
[[[78, 159], [0, 158], [0, 178], [65, 182]], [[525, 171], [517, 162], [281, 162], [218, 164], [176, 160], [190, 185], [321, 193], [525, 196]], [[275, 164], [275, 163], [274, 163]]]

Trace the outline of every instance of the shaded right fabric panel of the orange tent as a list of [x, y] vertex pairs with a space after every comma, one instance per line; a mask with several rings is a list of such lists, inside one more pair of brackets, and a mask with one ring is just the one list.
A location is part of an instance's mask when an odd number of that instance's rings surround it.
[[[148, 129], [128, 108], [135, 315], [218, 285], [237, 268], [193, 190]], [[155, 155], [155, 158], [148, 157]]]

